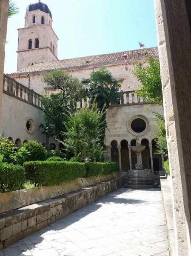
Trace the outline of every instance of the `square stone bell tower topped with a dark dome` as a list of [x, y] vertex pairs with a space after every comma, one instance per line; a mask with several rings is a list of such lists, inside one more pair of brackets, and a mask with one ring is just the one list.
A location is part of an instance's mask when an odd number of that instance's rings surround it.
[[18, 29], [17, 71], [40, 62], [58, 60], [58, 38], [52, 22], [45, 3], [37, 0], [27, 7], [25, 27]]

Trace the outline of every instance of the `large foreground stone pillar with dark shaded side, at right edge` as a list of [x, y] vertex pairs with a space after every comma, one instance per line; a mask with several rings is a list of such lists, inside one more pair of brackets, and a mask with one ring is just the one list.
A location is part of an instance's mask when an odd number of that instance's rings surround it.
[[191, 255], [191, 5], [185, 0], [154, 3], [177, 249], [173, 255], [187, 256]]

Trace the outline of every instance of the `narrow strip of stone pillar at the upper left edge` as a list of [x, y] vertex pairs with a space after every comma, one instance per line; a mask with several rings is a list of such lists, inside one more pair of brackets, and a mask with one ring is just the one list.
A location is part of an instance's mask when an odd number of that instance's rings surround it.
[[7, 34], [7, 17], [9, 12], [9, 0], [0, 0], [0, 121], [3, 97], [3, 73], [5, 61], [5, 42]]

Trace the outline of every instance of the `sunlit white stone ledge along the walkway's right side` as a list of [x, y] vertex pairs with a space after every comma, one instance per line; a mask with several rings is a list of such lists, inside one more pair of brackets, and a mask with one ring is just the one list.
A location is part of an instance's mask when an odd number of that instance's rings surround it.
[[162, 192], [162, 201], [165, 210], [165, 221], [166, 228], [168, 233], [168, 244], [170, 256], [177, 255], [176, 253], [176, 240], [174, 233], [174, 219], [173, 219], [173, 210], [172, 210], [172, 191], [169, 176], [162, 177], [160, 179], [160, 186]]

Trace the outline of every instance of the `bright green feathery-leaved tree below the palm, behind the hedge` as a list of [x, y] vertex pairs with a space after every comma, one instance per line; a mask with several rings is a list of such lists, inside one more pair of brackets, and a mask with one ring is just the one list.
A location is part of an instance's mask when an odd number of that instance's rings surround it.
[[84, 108], [67, 116], [66, 131], [63, 132], [67, 139], [63, 145], [67, 151], [78, 154], [81, 161], [94, 162], [103, 159], [103, 147], [99, 142], [103, 134], [103, 114], [93, 102], [91, 108], [88, 108], [86, 103]]

